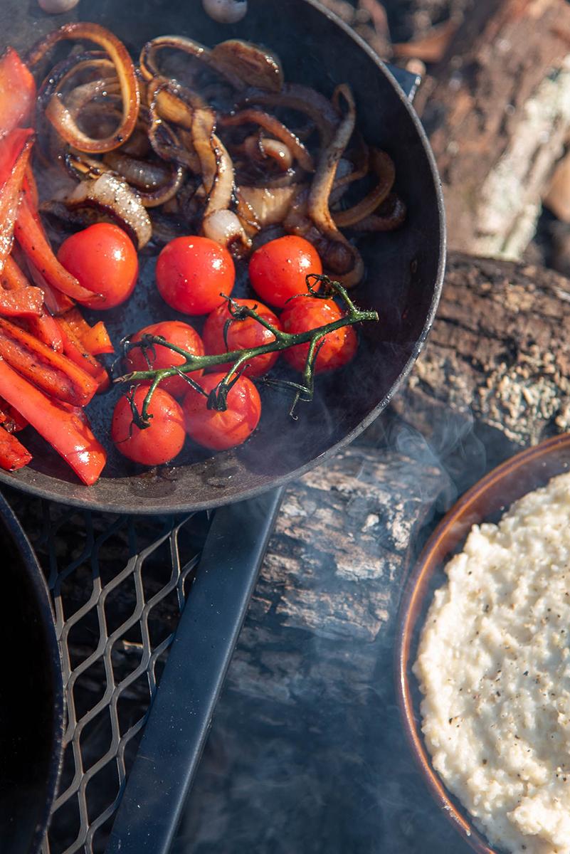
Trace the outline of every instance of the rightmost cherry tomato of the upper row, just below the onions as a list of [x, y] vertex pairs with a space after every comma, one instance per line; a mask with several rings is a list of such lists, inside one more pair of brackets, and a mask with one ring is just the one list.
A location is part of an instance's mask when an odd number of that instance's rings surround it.
[[295, 294], [307, 293], [305, 277], [310, 272], [318, 276], [323, 272], [317, 249], [304, 237], [293, 234], [260, 246], [249, 262], [253, 290], [277, 308], [282, 308]]

